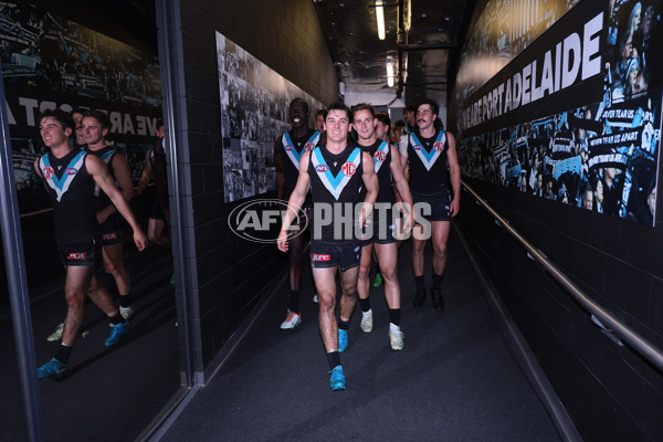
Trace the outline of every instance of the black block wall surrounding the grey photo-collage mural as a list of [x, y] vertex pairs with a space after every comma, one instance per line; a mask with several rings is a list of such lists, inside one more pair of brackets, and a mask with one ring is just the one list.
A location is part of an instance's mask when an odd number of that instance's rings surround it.
[[[180, 127], [175, 130], [186, 213], [180, 232], [188, 245], [181, 251], [176, 248], [175, 254], [176, 264], [183, 259], [190, 272], [183, 295], [193, 306], [189, 319], [196, 324], [194, 346], [207, 368], [261, 296], [283, 276], [286, 262], [275, 244], [241, 240], [227, 223], [230, 211], [246, 200], [223, 202], [214, 32], [323, 103], [338, 96], [338, 77], [311, 1], [181, 1], [179, 14], [183, 84], [177, 85]], [[275, 192], [261, 197], [275, 197]]]

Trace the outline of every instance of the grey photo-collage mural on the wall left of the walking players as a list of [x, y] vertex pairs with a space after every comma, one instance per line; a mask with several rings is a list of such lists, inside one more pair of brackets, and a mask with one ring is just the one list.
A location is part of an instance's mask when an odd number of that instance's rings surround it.
[[217, 32], [225, 202], [276, 189], [274, 140], [290, 129], [293, 98], [326, 107]]

